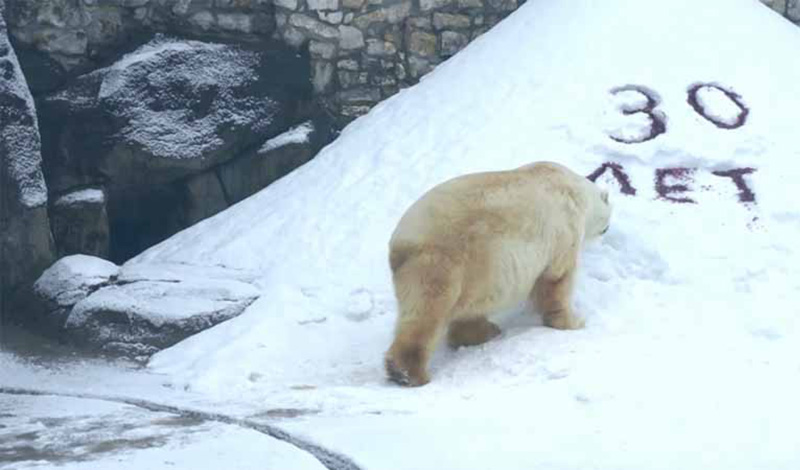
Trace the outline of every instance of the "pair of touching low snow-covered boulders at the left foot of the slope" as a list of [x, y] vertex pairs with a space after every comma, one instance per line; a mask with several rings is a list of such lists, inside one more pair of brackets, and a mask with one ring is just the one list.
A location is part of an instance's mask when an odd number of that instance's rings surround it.
[[32, 322], [80, 349], [144, 360], [239, 315], [259, 296], [254, 276], [221, 267], [61, 258], [36, 281]]

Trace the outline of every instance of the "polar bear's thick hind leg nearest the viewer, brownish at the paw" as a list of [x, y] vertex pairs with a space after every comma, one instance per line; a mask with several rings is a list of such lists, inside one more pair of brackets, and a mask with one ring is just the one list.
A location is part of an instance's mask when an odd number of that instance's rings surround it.
[[[398, 317], [386, 372], [402, 385], [428, 382], [427, 365], [461, 296], [462, 268], [440, 250], [403, 256], [393, 272]], [[393, 266], [393, 267], [395, 267]]]

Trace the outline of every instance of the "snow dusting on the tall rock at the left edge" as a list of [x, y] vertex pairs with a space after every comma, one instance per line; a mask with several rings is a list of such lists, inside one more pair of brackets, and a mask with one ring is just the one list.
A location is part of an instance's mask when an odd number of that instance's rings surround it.
[[42, 175], [39, 124], [33, 97], [8, 40], [2, 15], [0, 63], [10, 65], [10, 68], [2, 69], [4, 76], [0, 80], [3, 102], [0, 109], [0, 149], [5, 153], [0, 165], [8, 167], [10, 183], [17, 191], [19, 202], [28, 208], [40, 207], [47, 204], [47, 187]]

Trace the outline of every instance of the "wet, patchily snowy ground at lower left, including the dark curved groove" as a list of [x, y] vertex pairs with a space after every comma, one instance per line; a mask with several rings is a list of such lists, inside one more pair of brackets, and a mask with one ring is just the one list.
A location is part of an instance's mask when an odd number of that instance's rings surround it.
[[279, 426], [317, 410], [226, 414], [138, 364], [18, 327], [0, 328], [0, 345], [2, 470], [357, 469]]

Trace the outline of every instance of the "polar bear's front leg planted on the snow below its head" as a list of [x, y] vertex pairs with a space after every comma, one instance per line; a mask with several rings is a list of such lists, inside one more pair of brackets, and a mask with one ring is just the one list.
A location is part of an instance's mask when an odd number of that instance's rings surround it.
[[575, 271], [569, 270], [558, 278], [544, 275], [536, 281], [534, 303], [542, 313], [544, 324], [550, 328], [578, 330], [584, 326], [584, 320], [575, 315], [570, 306], [574, 278]]

